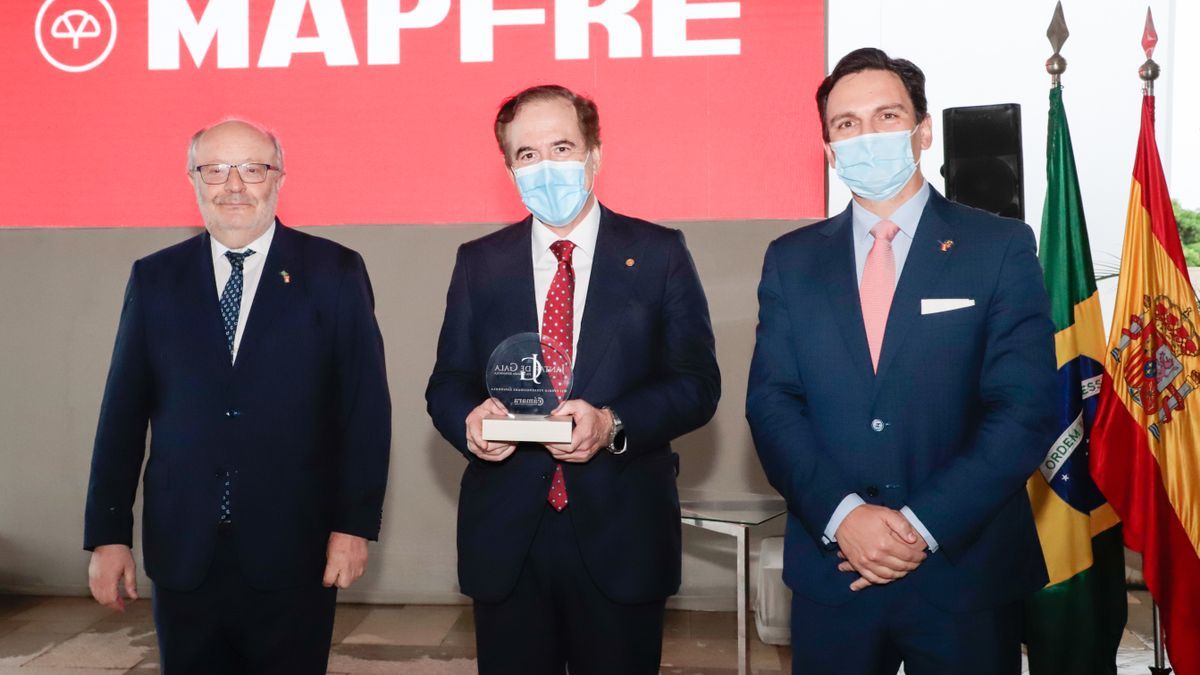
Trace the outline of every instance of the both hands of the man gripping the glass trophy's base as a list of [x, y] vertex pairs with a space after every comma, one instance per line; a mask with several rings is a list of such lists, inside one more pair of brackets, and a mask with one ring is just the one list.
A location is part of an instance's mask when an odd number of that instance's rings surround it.
[[[516, 443], [484, 440], [484, 418], [508, 414], [504, 404], [487, 399], [467, 416], [467, 449], [485, 461], [500, 461], [517, 449]], [[575, 430], [570, 443], [544, 443], [551, 456], [558, 461], [582, 464], [590, 460], [600, 448], [608, 446], [612, 436], [612, 414], [582, 399], [563, 401], [550, 414], [571, 417]]]

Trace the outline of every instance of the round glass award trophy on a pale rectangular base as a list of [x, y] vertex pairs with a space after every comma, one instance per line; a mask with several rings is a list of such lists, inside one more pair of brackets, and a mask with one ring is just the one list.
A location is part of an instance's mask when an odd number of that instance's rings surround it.
[[496, 347], [484, 374], [487, 393], [506, 416], [484, 418], [484, 440], [570, 443], [570, 416], [551, 416], [571, 393], [571, 357], [552, 338], [518, 333]]

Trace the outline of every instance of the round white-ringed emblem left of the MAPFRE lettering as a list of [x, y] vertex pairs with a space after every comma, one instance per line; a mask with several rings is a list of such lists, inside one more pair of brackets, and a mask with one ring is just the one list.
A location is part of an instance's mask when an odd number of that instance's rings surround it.
[[98, 66], [116, 44], [116, 14], [108, 0], [46, 0], [34, 37], [42, 56], [66, 72]]

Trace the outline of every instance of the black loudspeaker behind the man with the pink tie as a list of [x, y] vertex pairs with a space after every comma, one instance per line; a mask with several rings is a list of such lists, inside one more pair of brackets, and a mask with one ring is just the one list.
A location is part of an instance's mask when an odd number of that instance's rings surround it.
[[946, 197], [1025, 220], [1021, 106], [971, 106], [942, 113]]

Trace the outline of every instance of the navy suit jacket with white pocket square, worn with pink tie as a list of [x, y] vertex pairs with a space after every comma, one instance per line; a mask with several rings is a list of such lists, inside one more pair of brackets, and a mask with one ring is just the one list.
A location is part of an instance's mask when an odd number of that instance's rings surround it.
[[[899, 584], [955, 611], [1013, 602], [1046, 581], [1025, 480], [1054, 440], [1056, 364], [1032, 232], [931, 192], [876, 375], [852, 229], [847, 208], [781, 237], [758, 287], [746, 417], [787, 500], [785, 580], [824, 604], [852, 597], [857, 575], [822, 534], [857, 492], [908, 506], [941, 546]], [[974, 305], [923, 315], [932, 298]]]

